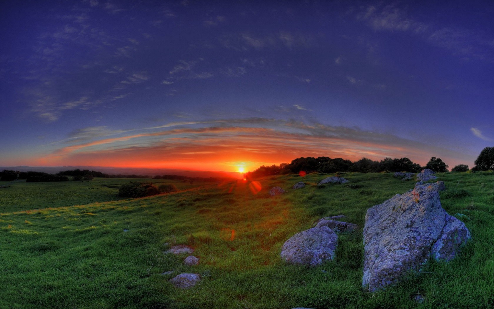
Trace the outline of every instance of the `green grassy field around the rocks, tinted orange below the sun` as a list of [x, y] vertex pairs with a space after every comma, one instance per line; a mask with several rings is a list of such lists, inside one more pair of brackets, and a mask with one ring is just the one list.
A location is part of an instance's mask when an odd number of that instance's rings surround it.
[[[92, 182], [99, 190], [76, 182], [0, 189], [1, 205], [5, 198], [10, 203], [0, 210], [0, 308], [494, 307], [494, 173], [439, 174], [448, 187], [443, 207], [469, 217], [461, 220], [473, 240], [452, 262], [430, 263], [419, 276], [373, 294], [361, 287], [365, 213], [414, 182], [346, 173], [348, 185], [315, 186], [327, 176], [265, 177], [257, 194], [248, 182], [232, 181], [135, 200], [106, 195], [101, 179]], [[301, 180], [306, 187], [292, 190]], [[18, 194], [6, 193], [17, 185]], [[269, 197], [275, 185], [288, 193]], [[58, 208], [48, 208], [53, 195], [37, 193], [47, 186], [60, 196]], [[82, 205], [95, 192], [99, 203]], [[23, 196], [37, 202], [23, 204]], [[290, 236], [340, 214], [360, 229], [339, 236], [333, 262], [312, 268], [282, 262]], [[170, 244], [193, 246], [200, 265], [164, 255]], [[202, 281], [176, 289], [168, 280], [180, 272], [199, 273]], [[424, 303], [413, 301], [418, 294]]]

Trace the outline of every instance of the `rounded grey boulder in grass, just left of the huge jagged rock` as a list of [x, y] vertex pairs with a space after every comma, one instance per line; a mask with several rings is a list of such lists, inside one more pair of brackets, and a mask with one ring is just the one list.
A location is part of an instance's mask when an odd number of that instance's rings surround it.
[[327, 226], [313, 227], [291, 236], [281, 250], [281, 257], [289, 264], [321, 265], [334, 259], [338, 236]]

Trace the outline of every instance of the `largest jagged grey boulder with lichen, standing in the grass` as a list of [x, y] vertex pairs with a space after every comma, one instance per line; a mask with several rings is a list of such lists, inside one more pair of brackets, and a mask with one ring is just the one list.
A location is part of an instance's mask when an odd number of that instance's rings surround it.
[[420, 271], [429, 257], [449, 261], [470, 239], [465, 224], [441, 207], [442, 181], [416, 186], [368, 209], [364, 226], [364, 290], [375, 292]]

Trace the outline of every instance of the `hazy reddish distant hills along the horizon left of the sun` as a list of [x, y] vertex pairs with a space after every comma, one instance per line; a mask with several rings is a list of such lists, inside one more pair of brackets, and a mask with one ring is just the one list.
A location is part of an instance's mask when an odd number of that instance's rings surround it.
[[187, 170], [174, 170], [174, 169], [139, 169], [139, 168], [114, 168], [103, 166], [55, 166], [55, 167], [32, 167], [32, 166], [13, 166], [13, 167], [0, 167], [0, 171], [14, 170], [19, 172], [44, 172], [49, 174], [56, 174], [61, 171], [68, 170], [91, 170], [105, 174], [112, 175], [180, 175], [187, 177], [222, 177], [222, 178], [235, 178], [240, 179], [243, 174], [237, 172], [215, 172], [215, 171], [187, 171]]

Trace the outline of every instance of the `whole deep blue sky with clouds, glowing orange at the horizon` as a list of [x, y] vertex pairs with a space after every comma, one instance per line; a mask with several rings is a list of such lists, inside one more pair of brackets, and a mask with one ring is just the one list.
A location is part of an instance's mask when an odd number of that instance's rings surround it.
[[473, 167], [494, 2], [444, 3], [1, 1], [0, 166]]

